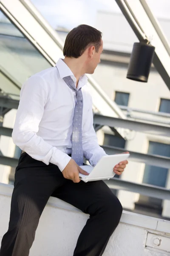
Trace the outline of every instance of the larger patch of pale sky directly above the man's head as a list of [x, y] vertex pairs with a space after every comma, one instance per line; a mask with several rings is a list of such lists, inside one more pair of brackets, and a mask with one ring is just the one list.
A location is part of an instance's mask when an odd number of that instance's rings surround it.
[[112, 11], [119, 7], [113, 0], [31, 0], [48, 22], [56, 28], [64, 26], [68, 29], [79, 24], [95, 25], [97, 10]]

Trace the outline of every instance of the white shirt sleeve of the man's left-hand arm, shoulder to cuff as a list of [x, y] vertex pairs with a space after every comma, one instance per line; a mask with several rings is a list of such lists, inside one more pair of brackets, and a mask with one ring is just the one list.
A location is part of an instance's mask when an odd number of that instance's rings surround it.
[[28, 155], [45, 164], [53, 163], [60, 171], [71, 160], [67, 154], [37, 136], [44, 107], [48, 100], [48, 85], [44, 79], [32, 76], [23, 85], [12, 139]]

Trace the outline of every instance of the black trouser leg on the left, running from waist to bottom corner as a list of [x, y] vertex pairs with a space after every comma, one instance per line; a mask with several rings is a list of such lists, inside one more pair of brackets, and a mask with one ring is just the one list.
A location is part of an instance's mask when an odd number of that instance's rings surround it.
[[64, 182], [57, 166], [46, 166], [24, 154], [16, 169], [9, 227], [2, 239], [0, 256], [29, 255], [48, 198]]

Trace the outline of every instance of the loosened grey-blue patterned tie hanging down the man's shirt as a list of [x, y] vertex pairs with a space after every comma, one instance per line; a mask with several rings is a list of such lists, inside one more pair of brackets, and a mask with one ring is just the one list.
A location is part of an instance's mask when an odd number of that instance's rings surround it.
[[73, 79], [70, 76], [63, 78], [65, 83], [76, 92], [76, 105], [74, 108], [73, 117], [73, 133], [71, 136], [72, 152], [71, 158], [81, 166], [83, 164], [83, 150], [82, 150], [82, 110], [83, 110], [83, 96], [81, 88], [77, 90]]

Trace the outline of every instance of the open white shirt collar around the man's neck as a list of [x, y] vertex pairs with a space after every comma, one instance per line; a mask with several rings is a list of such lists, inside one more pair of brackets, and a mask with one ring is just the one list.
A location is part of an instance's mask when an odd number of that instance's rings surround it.
[[[72, 73], [70, 68], [67, 66], [67, 64], [65, 64], [65, 62], [61, 58], [59, 58], [59, 60], [57, 61], [56, 67], [58, 69], [59, 76], [61, 79], [63, 79], [66, 76], [71, 76], [74, 83], [76, 83], [76, 78], [75, 78], [74, 74]], [[79, 78], [78, 87], [81, 88], [82, 86], [84, 86], [87, 83], [87, 81], [88, 81], [88, 78], [86, 75], [81, 76]]]

